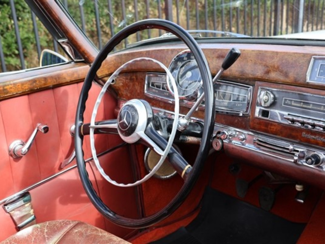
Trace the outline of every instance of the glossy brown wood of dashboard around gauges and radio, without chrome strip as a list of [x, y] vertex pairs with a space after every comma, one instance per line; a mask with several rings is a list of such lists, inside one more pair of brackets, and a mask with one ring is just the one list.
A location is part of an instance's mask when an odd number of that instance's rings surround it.
[[[254, 105], [256, 103], [257, 88], [260, 84], [267, 84], [272, 88], [283, 85], [291, 85], [292, 92], [308, 90], [311, 93], [325, 95], [325, 86], [306, 83], [306, 73], [313, 56], [325, 55], [323, 47], [298, 47], [261, 44], [202, 44], [201, 48], [208, 60], [211, 73], [215, 75], [229, 49], [237, 47], [241, 51], [240, 58], [235, 64], [224, 72], [221, 77], [241, 84], [249, 84], [255, 87], [253, 91], [252, 110], [250, 116], [234, 116], [217, 114], [216, 123], [236, 127], [239, 129], [261, 131], [269, 134], [276, 134], [280, 137], [290, 138], [299, 142], [311, 143], [322, 146], [322, 142], [313, 141], [308, 138], [301, 138], [301, 129], [288, 130], [283, 125], [266, 123], [264, 120], [254, 118]], [[119, 52], [109, 56], [98, 72], [100, 77], [110, 75], [125, 62], [138, 57], [149, 57], [161, 61], [168, 67], [172, 59], [182, 50], [184, 45], [140, 47], [136, 49]], [[106, 72], [104, 74], [103, 72]], [[133, 98], [145, 98], [153, 107], [162, 108], [168, 111], [174, 109], [174, 105], [167, 102], [148, 98], [144, 93], [145, 76], [147, 72], [163, 72], [158, 66], [149, 61], [138, 62], [127, 67], [123, 74], [113, 85], [119, 99], [130, 100]], [[267, 82], [267, 83], [266, 83]], [[188, 108], [181, 107], [180, 112], [186, 114]], [[194, 115], [203, 118], [203, 111], [197, 111]], [[283, 129], [284, 128], [284, 129]], [[323, 133], [313, 132], [315, 135]]]

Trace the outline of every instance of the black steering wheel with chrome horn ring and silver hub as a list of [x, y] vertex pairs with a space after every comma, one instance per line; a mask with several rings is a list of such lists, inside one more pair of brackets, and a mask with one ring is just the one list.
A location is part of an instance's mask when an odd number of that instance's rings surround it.
[[[155, 130], [154, 125], [154, 115], [151, 109], [151, 106], [148, 102], [144, 100], [131, 100], [126, 102], [123, 107], [121, 108], [117, 120], [106, 120], [106, 121], [98, 121], [95, 122], [97, 108], [99, 102], [101, 101], [101, 96], [106, 91], [106, 88], [110, 85], [112, 79], [118, 75], [120, 70], [122, 70], [128, 63], [122, 65], [113, 75], [111, 75], [110, 79], [106, 82], [105, 86], [102, 89], [102, 92], [98, 96], [98, 100], [96, 102], [94, 112], [92, 115], [91, 123], [88, 125], [88, 131], [91, 136], [91, 141], [93, 133], [118, 133], [121, 138], [127, 143], [135, 143], [140, 140], [149, 144], [158, 154], [161, 156], [161, 160], [163, 162], [164, 158], [168, 155], [169, 161], [175, 168], [175, 170], [182, 176], [184, 179], [184, 184], [176, 194], [176, 196], [162, 209], [158, 212], [144, 217], [140, 219], [132, 219], [127, 218], [121, 215], [118, 215], [114, 211], [110, 210], [107, 207], [100, 197], [98, 197], [96, 191], [94, 190], [87, 171], [85, 167], [85, 160], [84, 160], [84, 153], [82, 149], [83, 145], [83, 137], [86, 134], [86, 124], [84, 124], [84, 112], [85, 112], [85, 103], [88, 98], [88, 92], [91, 88], [92, 81], [95, 79], [96, 73], [100, 68], [102, 62], [106, 59], [107, 55], [114, 49], [114, 47], [123, 41], [126, 37], [131, 34], [135, 34], [137, 31], [146, 30], [146, 29], [161, 29], [167, 32], [170, 32], [177, 37], [179, 37], [192, 51], [195, 60], [197, 62], [198, 68], [201, 72], [201, 78], [203, 83], [203, 90], [205, 96], [205, 113], [204, 113], [204, 126], [202, 131], [202, 138], [201, 144], [196, 156], [195, 162], [193, 166], [189, 165], [186, 160], [178, 154], [178, 152], [173, 148], [172, 141], [173, 141], [173, 133], [175, 136], [177, 122], [178, 122], [178, 94], [175, 85], [175, 81], [171, 76], [170, 72], [167, 68], [162, 66], [158, 61], [151, 60], [149, 58], [143, 58], [147, 60], [154, 61], [161, 65], [168, 77], [171, 79], [171, 82], [174, 87], [175, 93], [175, 121], [173, 123], [173, 130], [171, 132], [171, 137], [168, 142], [162, 138], [162, 136]], [[175, 92], [176, 91], [176, 92]], [[130, 116], [129, 116], [130, 115]], [[145, 119], [139, 119], [139, 115], [146, 116]], [[178, 26], [177, 24], [167, 21], [167, 20], [160, 20], [160, 19], [148, 19], [148, 20], [141, 20], [136, 23], [133, 23], [123, 30], [118, 32], [114, 35], [110, 41], [103, 47], [103, 49], [98, 53], [94, 63], [91, 65], [90, 70], [85, 78], [85, 82], [83, 88], [81, 90], [81, 94], [79, 97], [79, 102], [77, 105], [77, 112], [76, 112], [76, 121], [75, 121], [75, 151], [76, 151], [76, 159], [77, 159], [77, 167], [80, 175], [81, 182], [84, 186], [85, 192], [88, 195], [91, 202], [97, 208], [97, 210], [103, 214], [106, 218], [112, 221], [115, 224], [118, 224], [123, 227], [127, 228], [144, 228], [150, 226], [152, 224], [156, 224], [159, 221], [163, 220], [164, 218], [171, 215], [185, 200], [188, 196], [189, 192], [191, 191], [193, 185], [195, 184], [201, 169], [204, 165], [204, 161], [208, 155], [211, 140], [212, 140], [212, 132], [214, 128], [214, 89], [212, 83], [211, 72], [204, 57], [204, 54], [201, 48], [198, 46], [197, 42], [194, 38], [188, 34], [182, 27]], [[127, 119], [129, 117], [129, 119]], [[94, 160], [96, 163], [96, 150], [94, 148], [94, 143], [91, 142], [92, 153], [94, 156]], [[95, 155], [94, 155], [95, 153]], [[95, 159], [96, 158], [96, 159]], [[99, 163], [98, 163], [99, 164]], [[97, 165], [97, 163], [96, 163]], [[98, 165], [97, 165], [98, 166]], [[157, 164], [157, 169], [159, 167], [159, 163]], [[148, 175], [152, 175], [153, 169]], [[99, 169], [101, 171], [101, 169]], [[152, 173], [153, 172], [153, 173]], [[101, 172], [102, 173], [102, 172]], [[103, 174], [102, 174], [103, 175]], [[105, 174], [106, 175], [106, 174]], [[148, 175], [146, 176], [147, 178]], [[104, 175], [103, 175], [104, 176]], [[140, 184], [145, 181], [146, 177], [143, 179], [133, 183], [133, 184], [119, 184], [110, 180], [110, 178], [105, 177], [110, 183], [118, 185], [118, 186], [133, 186], [136, 184]]]

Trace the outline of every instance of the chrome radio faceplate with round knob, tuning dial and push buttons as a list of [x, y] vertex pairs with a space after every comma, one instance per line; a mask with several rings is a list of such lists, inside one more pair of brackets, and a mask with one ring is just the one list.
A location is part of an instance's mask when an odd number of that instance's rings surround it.
[[325, 131], [325, 96], [259, 87], [255, 117]]

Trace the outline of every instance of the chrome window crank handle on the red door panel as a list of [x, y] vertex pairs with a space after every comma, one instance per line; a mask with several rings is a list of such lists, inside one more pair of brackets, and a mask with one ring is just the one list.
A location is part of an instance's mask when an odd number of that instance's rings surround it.
[[13, 158], [25, 156], [30, 150], [38, 131], [41, 131], [44, 134], [47, 133], [48, 126], [39, 123], [36, 125], [36, 128], [32, 132], [32, 135], [29, 137], [27, 142], [23, 142], [22, 140], [12, 142], [8, 149], [9, 155]]

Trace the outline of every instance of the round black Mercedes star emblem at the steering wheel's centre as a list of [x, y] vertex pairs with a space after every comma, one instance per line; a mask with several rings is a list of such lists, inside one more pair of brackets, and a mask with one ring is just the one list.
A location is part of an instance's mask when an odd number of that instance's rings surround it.
[[138, 113], [135, 106], [126, 104], [118, 116], [118, 130], [123, 136], [132, 135], [138, 123]]

